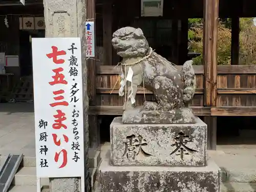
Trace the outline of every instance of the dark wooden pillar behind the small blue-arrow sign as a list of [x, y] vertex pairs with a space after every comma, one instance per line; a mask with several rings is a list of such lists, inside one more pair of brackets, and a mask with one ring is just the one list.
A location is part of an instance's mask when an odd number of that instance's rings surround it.
[[[95, 0], [87, 0], [87, 20], [94, 22], [94, 28], [96, 26], [96, 14], [95, 14]], [[96, 31], [94, 29], [94, 31]], [[95, 34], [94, 34], [95, 35]], [[95, 36], [95, 48], [96, 48], [96, 36]], [[96, 105], [96, 61], [95, 59], [88, 59], [88, 93], [90, 106]], [[97, 116], [89, 115], [89, 138], [90, 147], [97, 148], [100, 143], [99, 126], [97, 122]]]

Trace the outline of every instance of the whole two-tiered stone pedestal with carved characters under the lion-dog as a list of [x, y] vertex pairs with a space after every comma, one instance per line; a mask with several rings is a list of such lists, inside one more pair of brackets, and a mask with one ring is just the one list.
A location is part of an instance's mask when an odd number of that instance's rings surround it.
[[219, 192], [220, 169], [206, 161], [207, 125], [111, 124], [110, 157], [99, 167], [101, 192]]

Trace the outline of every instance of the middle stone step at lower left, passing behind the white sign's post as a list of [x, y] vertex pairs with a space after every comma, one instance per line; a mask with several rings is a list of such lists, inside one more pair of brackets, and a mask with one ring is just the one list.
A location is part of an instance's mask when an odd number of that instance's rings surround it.
[[[91, 184], [96, 180], [96, 168], [90, 168]], [[36, 186], [36, 167], [23, 167], [16, 173], [12, 185]], [[42, 186], [49, 186], [49, 178], [41, 178]]]

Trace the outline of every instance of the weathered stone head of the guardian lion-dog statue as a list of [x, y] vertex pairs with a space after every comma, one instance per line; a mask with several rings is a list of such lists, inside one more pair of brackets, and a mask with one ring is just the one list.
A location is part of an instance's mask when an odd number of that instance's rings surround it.
[[143, 57], [149, 46], [140, 28], [124, 27], [113, 33], [112, 45], [123, 58]]

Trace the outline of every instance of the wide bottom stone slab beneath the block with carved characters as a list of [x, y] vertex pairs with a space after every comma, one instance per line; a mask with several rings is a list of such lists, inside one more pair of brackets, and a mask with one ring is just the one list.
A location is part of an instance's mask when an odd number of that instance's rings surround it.
[[112, 166], [99, 168], [101, 192], [219, 192], [219, 167]]

